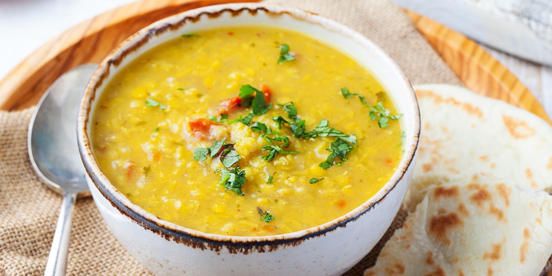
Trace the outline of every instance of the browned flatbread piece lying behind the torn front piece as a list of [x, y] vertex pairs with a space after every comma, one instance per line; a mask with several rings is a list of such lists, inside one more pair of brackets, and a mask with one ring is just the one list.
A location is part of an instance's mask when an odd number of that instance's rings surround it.
[[447, 84], [415, 86], [422, 133], [405, 207], [428, 185], [484, 173], [521, 189], [552, 189], [552, 127], [532, 113]]

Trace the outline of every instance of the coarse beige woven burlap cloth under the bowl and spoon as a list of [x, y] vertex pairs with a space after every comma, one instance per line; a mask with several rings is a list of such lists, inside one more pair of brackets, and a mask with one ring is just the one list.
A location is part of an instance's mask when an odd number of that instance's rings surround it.
[[[406, 15], [388, 0], [267, 2], [310, 10], [360, 31], [388, 52], [413, 84], [461, 85]], [[41, 184], [29, 162], [26, 136], [33, 110], [0, 112], [0, 275], [43, 274], [60, 210], [60, 195]], [[385, 237], [402, 225], [404, 216], [404, 212], [397, 216]], [[383, 243], [346, 275], [362, 275]], [[77, 201], [73, 216], [67, 274], [151, 273], [119, 245], [87, 198]]]

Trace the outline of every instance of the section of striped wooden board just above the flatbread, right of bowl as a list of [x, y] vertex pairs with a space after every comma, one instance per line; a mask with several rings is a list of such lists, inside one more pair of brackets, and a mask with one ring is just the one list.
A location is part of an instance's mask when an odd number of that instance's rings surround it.
[[552, 124], [529, 89], [483, 47], [431, 19], [409, 10], [405, 12], [466, 87], [529, 110]]

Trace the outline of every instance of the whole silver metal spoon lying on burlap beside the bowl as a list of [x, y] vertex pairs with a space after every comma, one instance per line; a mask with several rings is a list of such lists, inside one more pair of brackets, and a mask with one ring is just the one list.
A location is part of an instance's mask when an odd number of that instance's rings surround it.
[[40, 99], [29, 125], [31, 163], [47, 187], [63, 195], [45, 276], [65, 275], [75, 201], [90, 195], [76, 129], [84, 88], [97, 67], [81, 65], [58, 78]]

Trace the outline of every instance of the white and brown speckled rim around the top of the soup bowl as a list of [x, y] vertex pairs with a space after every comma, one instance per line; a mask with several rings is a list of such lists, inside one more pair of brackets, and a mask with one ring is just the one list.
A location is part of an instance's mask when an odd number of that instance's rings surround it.
[[[88, 136], [89, 115], [91, 114], [91, 105], [96, 96], [97, 89], [102, 85], [105, 79], [109, 77], [111, 67], [120, 65], [121, 61], [131, 52], [146, 45], [153, 36], [160, 35], [167, 30], [178, 30], [185, 24], [191, 24], [197, 22], [198, 20], [209, 20], [209, 18], [216, 18], [224, 13], [230, 13], [232, 16], [236, 16], [243, 12], [248, 12], [252, 15], [264, 12], [276, 17], [286, 14], [290, 15], [294, 19], [302, 20], [310, 24], [317, 24], [325, 29], [348, 36], [358, 43], [363, 44], [363, 46], [368, 47], [370, 51], [374, 51], [376, 54], [381, 55], [382, 58], [386, 60], [389, 65], [391, 65], [392, 71], [400, 77], [397, 81], [404, 84], [404, 91], [401, 91], [401, 93], [404, 94], [400, 94], [400, 97], [407, 98], [408, 105], [410, 105], [407, 109], [412, 110], [410, 110], [411, 114], [405, 114], [407, 115], [405, 116], [406, 119], [411, 120], [411, 122], [409, 124], [410, 129], [408, 131], [408, 136], [405, 138], [405, 152], [399, 167], [397, 167], [397, 170], [394, 172], [388, 183], [386, 183], [378, 193], [376, 193], [369, 200], [365, 201], [362, 205], [335, 220], [310, 229], [273, 236], [226, 236], [188, 229], [186, 227], [173, 224], [172, 222], [162, 220], [159, 217], [148, 213], [140, 206], [132, 203], [118, 189], [116, 189], [112, 183], [109, 182], [108, 178], [102, 172], [102, 169], [100, 169], [98, 162], [94, 158], [91, 142]], [[393, 92], [390, 92], [390, 94], [393, 94]], [[94, 72], [94, 75], [90, 79], [83, 95], [81, 107], [79, 108], [77, 125], [79, 152], [88, 176], [92, 179], [95, 187], [98, 188], [103, 197], [107, 199], [116, 209], [118, 209], [121, 214], [129, 217], [145, 229], [161, 235], [166, 238], [166, 240], [174, 240], [177, 243], [184, 243], [185, 245], [192, 246], [194, 248], [198, 247], [202, 250], [209, 249], [220, 251], [222, 248], [226, 247], [232, 253], [242, 252], [245, 254], [253, 250], [264, 252], [272, 251], [279, 247], [285, 247], [288, 245], [298, 245], [302, 241], [305, 241], [311, 237], [325, 235], [327, 232], [333, 231], [338, 227], [346, 227], [348, 222], [357, 220], [360, 216], [375, 208], [376, 204], [386, 198], [386, 195], [388, 195], [399, 183], [402, 177], [404, 177], [407, 169], [412, 166], [412, 161], [415, 158], [418, 148], [419, 137], [420, 110], [418, 108], [416, 95], [410, 82], [404, 76], [404, 73], [402, 73], [399, 66], [396, 65], [395, 61], [393, 61], [388, 54], [379, 49], [378, 46], [376, 46], [369, 39], [365, 38], [363, 35], [331, 19], [299, 9], [283, 8], [275, 5], [258, 3], [222, 4], [188, 10], [187, 12], [176, 14], [153, 23], [130, 36], [130, 38], [126, 39], [123, 43], [117, 46], [100, 63], [98, 69]], [[408, 183], [405, 183], [405, 185], [407, 184]]]

